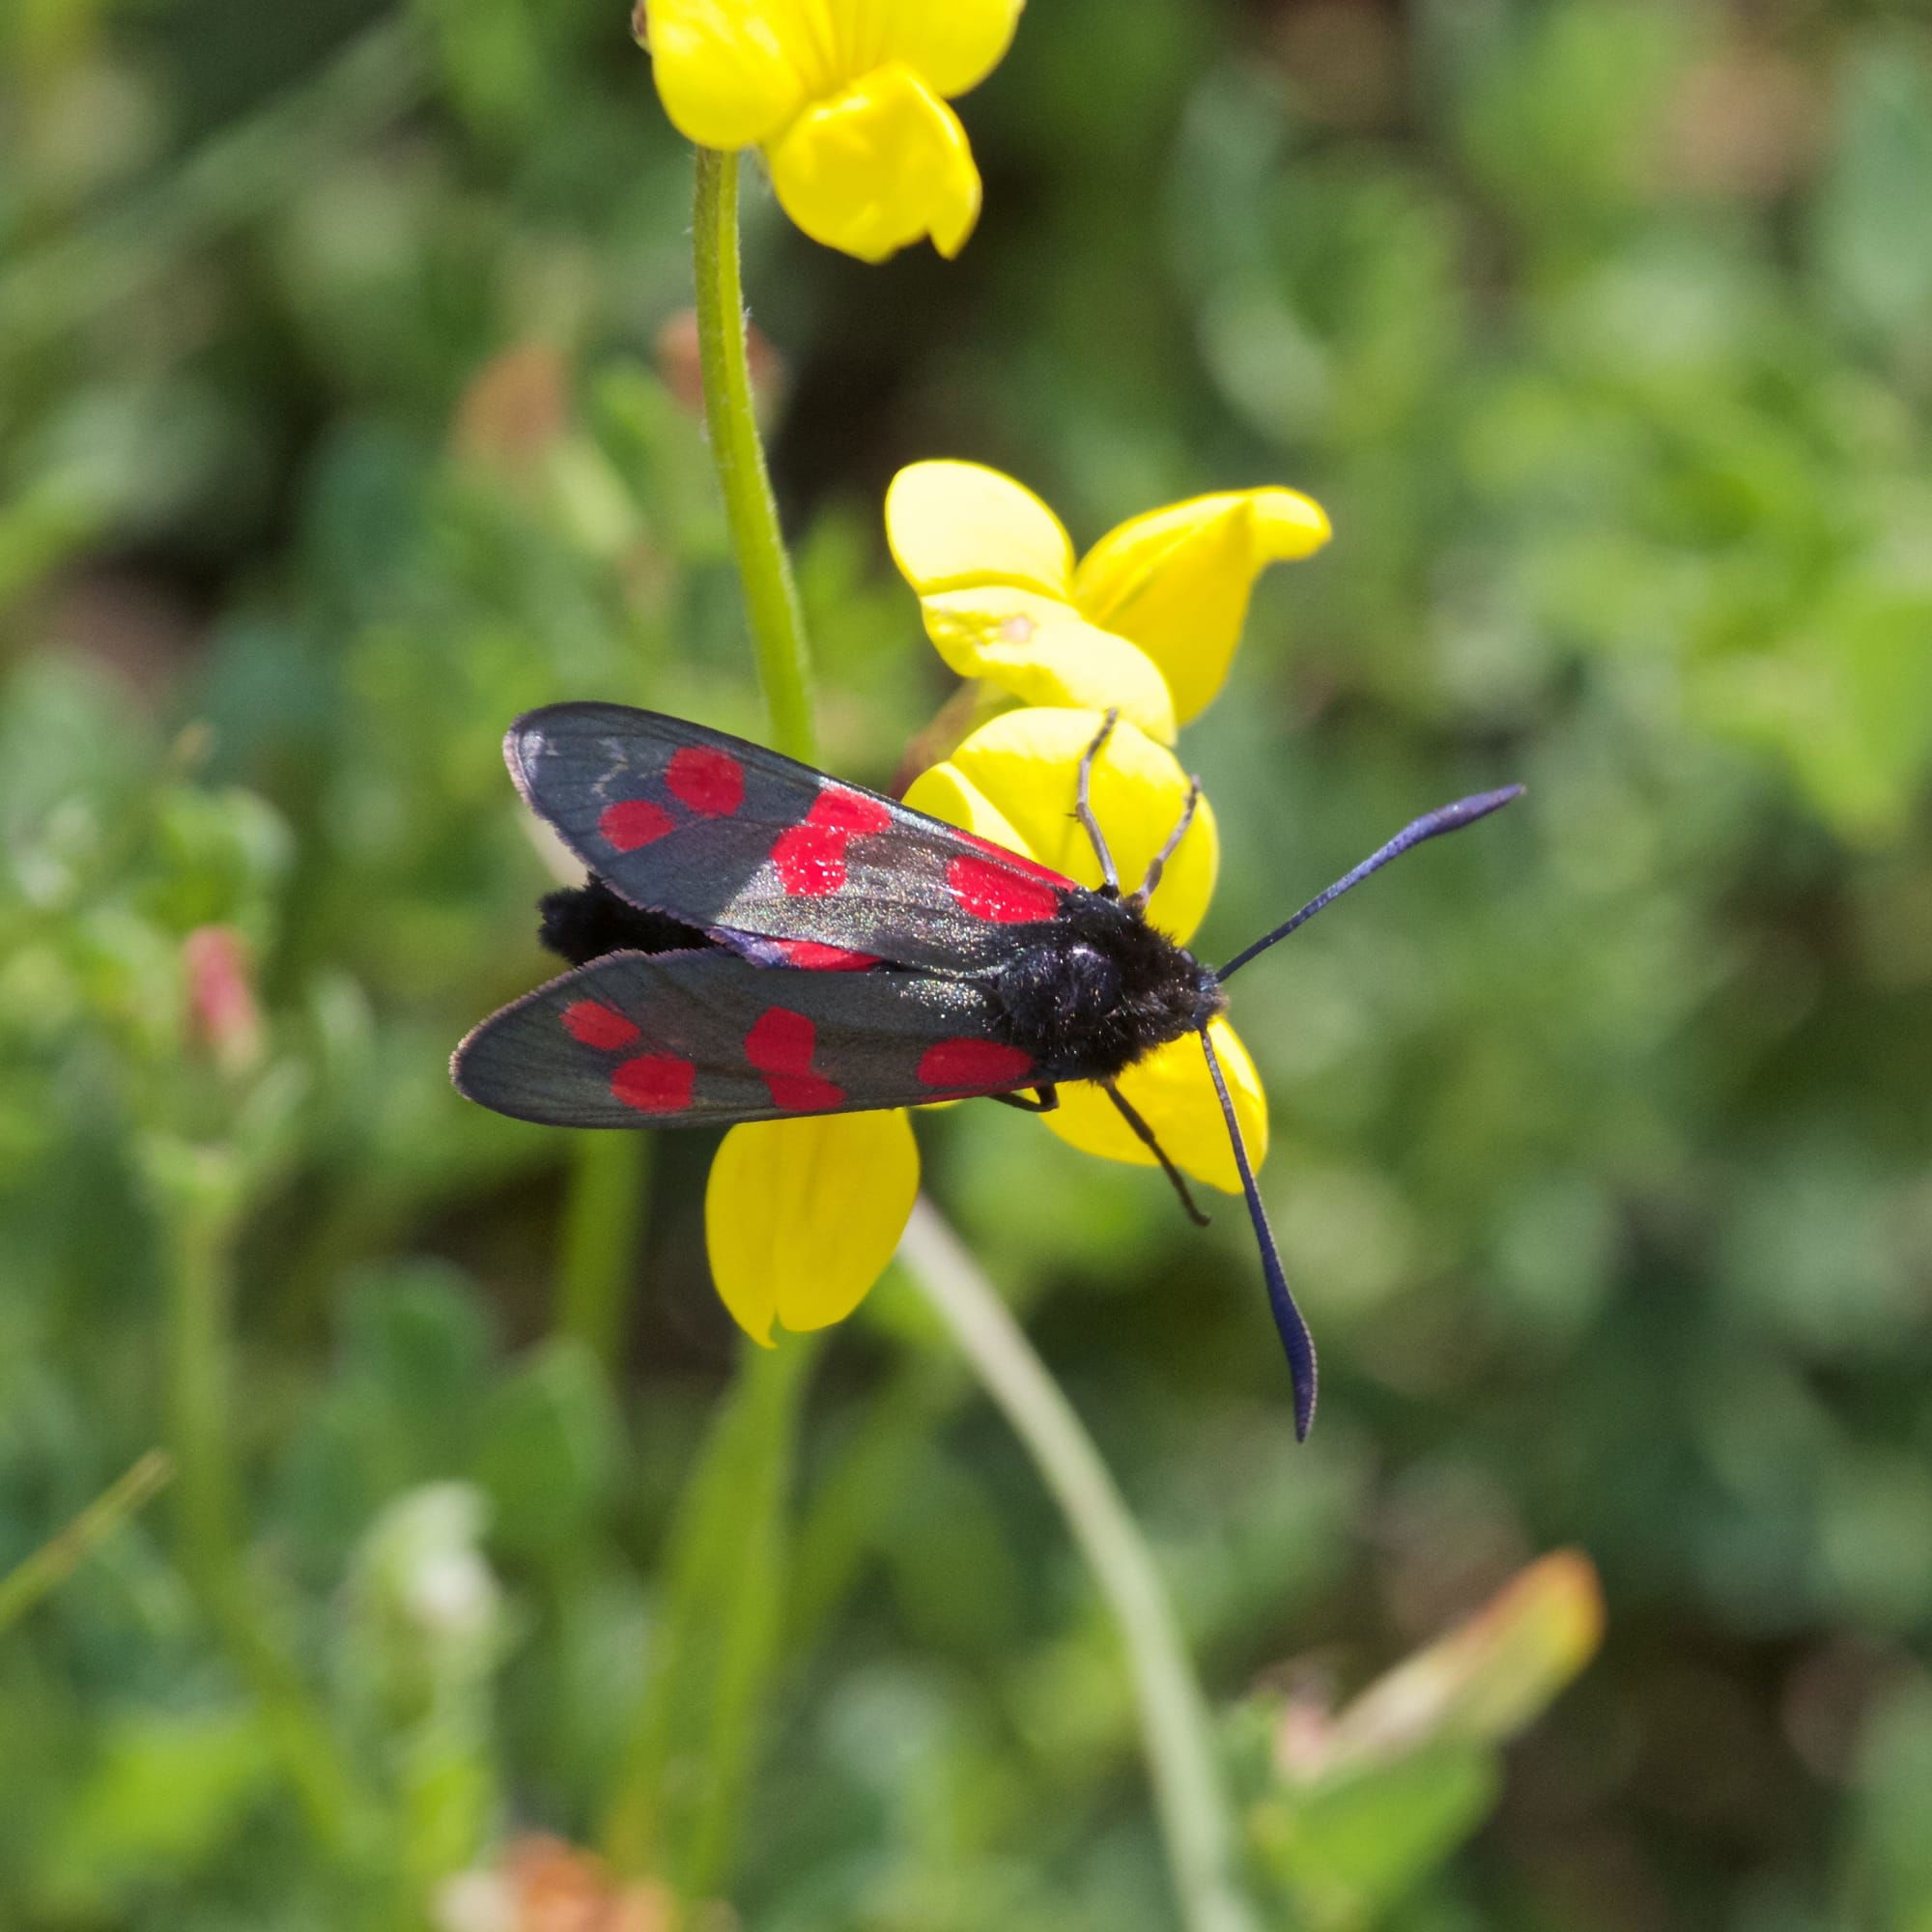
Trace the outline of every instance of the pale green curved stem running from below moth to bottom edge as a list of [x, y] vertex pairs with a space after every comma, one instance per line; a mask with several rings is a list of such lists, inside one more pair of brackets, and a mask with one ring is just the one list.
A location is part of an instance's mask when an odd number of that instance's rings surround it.
[[1209, 1716], [1153, 1553], [1059, 1383], [958, 1236], [923, 1198], [898, 1260], [972, 1360], [1061, 1505], [1126, 1646], [1186, 1932], [1252, 1932]]

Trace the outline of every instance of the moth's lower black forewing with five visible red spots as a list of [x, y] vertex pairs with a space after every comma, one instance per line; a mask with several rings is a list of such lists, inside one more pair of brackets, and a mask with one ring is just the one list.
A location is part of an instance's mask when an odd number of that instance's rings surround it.
[[549, 1126], [699, 1126], [862, 1113], [1026, 1086], [972, 980], [773, 972], [726, 951], [611, 952], [485, 1020], [450, 1076]]

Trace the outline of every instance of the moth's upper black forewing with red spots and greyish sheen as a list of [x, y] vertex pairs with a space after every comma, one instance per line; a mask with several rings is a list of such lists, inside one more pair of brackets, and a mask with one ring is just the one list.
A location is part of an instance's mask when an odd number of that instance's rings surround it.
[[510, 726], [504, 759], [531, 810], [624, 898], [761, 964], [974, 972], [1010, 952], [1012, 927], [1084, 891], [895, 798], [655, 711], [547, 705]]

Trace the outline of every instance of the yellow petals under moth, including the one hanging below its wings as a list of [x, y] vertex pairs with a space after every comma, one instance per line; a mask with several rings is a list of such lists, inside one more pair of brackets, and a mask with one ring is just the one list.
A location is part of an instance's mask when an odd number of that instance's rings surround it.
[[[1094, 846], [1072, 817], [1080, 757], [1101, 713], [1009, 711], [976, 730], [906, 792], [906, 804], [1009, 846], [1082, 885], [1099, 885]], [[1175, 755], [1121, 721], [1094, 761], [1094, 813], [1122, 879], [1138, 879], [1180, 819], [1188, 777]], [[1148, 902], [1148, 918], [1186, 943], [1213, 893], [1219, 838], [1202, 802]], [[1267, 1101], [1227, 1020], [1211, 1034], [1250, 1157], [1267, 1151]], [[1227, 1126], [1192, 1037], [1157, 1047], [1119, 1080], [1179, 1167], [1240, 1192]], [[1043, 1115], [1068, 1144], [1115, 1161], [1153, 1165], [1105, 1094], [1090, 1082], [1059, 1088]], [[856, 1113], [734, 1126], [711, 1167], [705, 1231], [724, 1306], [753, 1341], [773, 1327], [838, 1321], [871, 1289], [898, 1246], [918, 1190], [920, 1157], [908, 1117]]]

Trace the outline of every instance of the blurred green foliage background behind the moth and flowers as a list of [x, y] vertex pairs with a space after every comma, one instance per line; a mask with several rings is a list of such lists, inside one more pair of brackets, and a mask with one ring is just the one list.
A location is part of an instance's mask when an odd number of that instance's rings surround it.
[[[570, 1138], [444, 1061], [545, 972], [504, 723], [759, 730], [690, 156], [609, 0], [17, 0], [0, 46], [0, 1573], [155, 1443], [236, 1490], [0, 1631], [0, 1926], [589, 1926], [448, 1876], [609, 1841], [639, 1723], [676, 1785], [636, 1712], [738, 1349], [709, 1148], [651, 1150], [601, 1356]], [[1238, 989], [1306, 1449], [1235, 1204], [922, 1124], [1159, 1551], [1265, 1922], [1924, 1932], [1922, 10], [1034, 0], [962, 114], [956, 265], [752, 193], [827, 763], [889, 781], [945, 697], [879, 498], [968, 456], [1082, 545], [1246, 483], [1335, 520], [1186, 738], [1208, 956], [1530, 784]], [[1171, 1926], [1109, 1627], [904, 1281], [802, 1457], [711, 1889]], [[1294, 1787], [1296, 1725], [1557, 1546], [1609, 1621], [1548, 1718]]]

